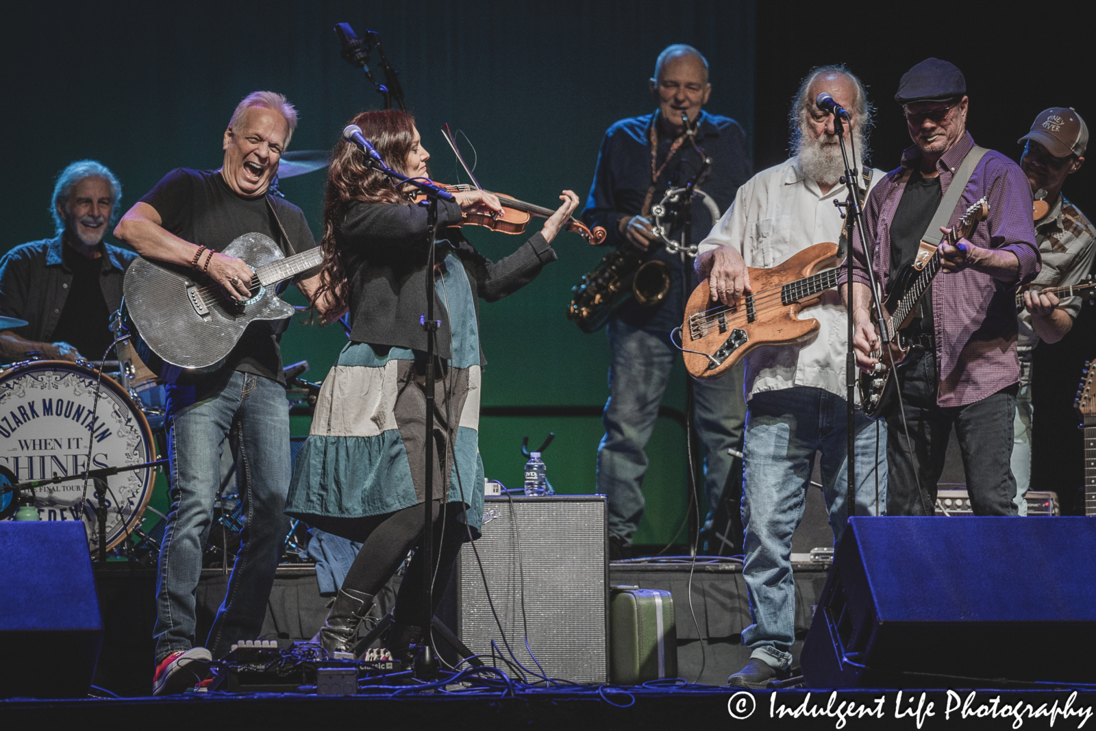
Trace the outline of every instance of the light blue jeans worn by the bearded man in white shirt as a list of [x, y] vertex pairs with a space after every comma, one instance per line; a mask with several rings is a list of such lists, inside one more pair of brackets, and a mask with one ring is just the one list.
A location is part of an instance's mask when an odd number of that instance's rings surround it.
[[[848, 518], [845, 403], [829, 391], [807, 386], [763, 391], [750, 399], [742, 489], [742, 575], [750, 590], [753, 624], [742, 630], [742, 643], [753, 649], [752, 658], [774, 667], [786, 670], [791, 664], [790, 648], [796, 639], [791, 535], [803, 517], [815, 452], [822, 453], [822, 492], [835, 547]], [[886, 507], [887, 427], [857, 411], [856, 514], [879, 515]]]

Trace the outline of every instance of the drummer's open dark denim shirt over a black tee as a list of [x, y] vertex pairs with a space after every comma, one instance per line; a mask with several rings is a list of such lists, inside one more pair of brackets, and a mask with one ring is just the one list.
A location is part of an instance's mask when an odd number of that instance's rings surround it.
[[[0, 259], [0, 315], [26, 320], [26, 325], [12, 332], [27, 340], [53, 342], [65, 310], [72, 273], [65, 266], [61, 245], [60, 236], [31, 241]], [[105, 241], [100, 245], [105, 255], [99, 285], [113, 312], [122, 306], [122, 279], [137, 254]]]

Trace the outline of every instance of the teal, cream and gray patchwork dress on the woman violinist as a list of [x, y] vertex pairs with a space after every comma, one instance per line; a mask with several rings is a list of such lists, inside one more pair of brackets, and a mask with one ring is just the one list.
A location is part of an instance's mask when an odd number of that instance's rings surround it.
[[[479, 332], [471, 287], [453, 254], [446, 256], [435, 289], [443, 302], [448, 300], [453, 358], [435, 366], [433, 496], [441, 499], [447, 489], [448, 502], [465, 506], [478, 537], [483, 515]], [[353, 524], [347, 518], [424, 501], [425, 366], [421, 351], [359, 342], [343, 347], [323, 381], [312, 427], [297, 456], [286, 513], [343, 535]], [[448, 479], [443, 479], [446, 465]]]

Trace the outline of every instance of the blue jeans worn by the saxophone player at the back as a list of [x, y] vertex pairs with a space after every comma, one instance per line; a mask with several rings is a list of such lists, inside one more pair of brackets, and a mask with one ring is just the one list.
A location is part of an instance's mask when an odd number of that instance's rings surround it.
[[[651, 438], [659, 418], [662, 392], [680, 351], [663, 331], [644, 330], [610, 320], [605, 328], [612, 361], [609, 399], [602, 412], [605, 435], [597, 447], [597, 491], [608, 498], [609, 535], [625, 544], [643, 516], [643, 475]], [[734, 369], [732, 373], [741, 373]], [[731, 374], [693, 381], [696, 431], [705, 448], [704, 484], [708, 504], [719, 504], [733, 457], [728, 447], [740, 448], [745, 403], [742, 380]]]

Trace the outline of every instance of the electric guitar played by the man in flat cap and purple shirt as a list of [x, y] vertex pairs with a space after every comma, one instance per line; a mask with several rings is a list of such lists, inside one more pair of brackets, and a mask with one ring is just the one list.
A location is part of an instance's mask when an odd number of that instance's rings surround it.
[[[955, 245], [959, 239], [969, 237], [978, 222], [989, 215], [989, 202], [985, 198], [977, 201], [951, 228], [951, 232], [944, 237], [944, 241]], [[867, 373], [861, 370], [859, 377], [860, 409], [869, 419], [881, 418], [882, 409], [890, 400], [894, 390], [892, 368], [909, 361], [910, 356], [921, 349], [921, 345], [906, 341], [903, 330], [910, 327], [917, 302], [933, 283], [933, 277], [940, 271], [940, 261], [939, 248], [922, 241], [913, 262], [902, 267], [898, 276], [890, 282], [890, 294], [883, 302], [883, 322], [890, 336], [890, 352], [884, 353], [880, 344], [871, 353], [878, 362], [871, 370]], [[1020, 302], [1023, 301], [1021, 297]], [[875, 305], [871, 309], [872, 321], [878, 321], [879, 315], [875, 312]]]

